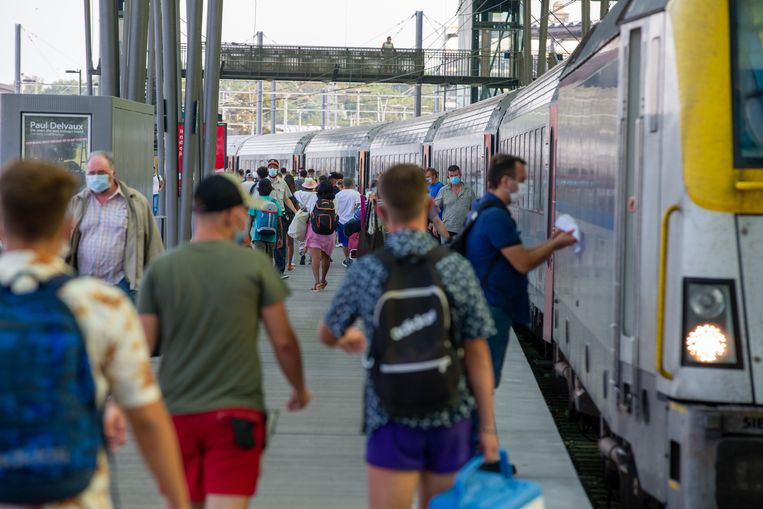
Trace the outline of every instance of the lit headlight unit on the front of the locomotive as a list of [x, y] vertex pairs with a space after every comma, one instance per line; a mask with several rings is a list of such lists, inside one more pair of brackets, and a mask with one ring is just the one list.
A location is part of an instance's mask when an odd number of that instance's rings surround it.
[[741, 368], [733, 280], [684, 280], [682, 364]]

